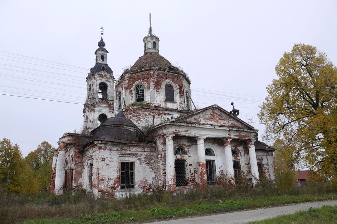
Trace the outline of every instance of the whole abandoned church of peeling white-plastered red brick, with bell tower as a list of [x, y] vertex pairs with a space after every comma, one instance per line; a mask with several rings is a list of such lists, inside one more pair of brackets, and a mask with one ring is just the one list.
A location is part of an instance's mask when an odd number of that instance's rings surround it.
[[275, 149], [258, 141], [254, 127], [217, 105], [192, 109], [190, 80], [159, 55], [151, 19], [143, 42], [144, 55], [115, 80], [101, 37], [86, 78], [84, 132], [60, 138], [50, 192], [180, 192], [216, 185], [220, 170], [234, 182], [250, 174], [252, 186], [275, 178]]

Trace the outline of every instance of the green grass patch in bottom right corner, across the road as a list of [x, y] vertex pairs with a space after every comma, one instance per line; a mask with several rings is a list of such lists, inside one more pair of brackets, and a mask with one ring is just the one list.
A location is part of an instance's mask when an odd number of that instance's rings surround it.
[[308, 211], [297, 212], [290, 215], [282, 215], [272, 219], [266, 219], [251, 224], [302, 224], [315, 223], [327, 224], [337, 223], [337, 206], [326, 205], [321, 208], [309, 208]]

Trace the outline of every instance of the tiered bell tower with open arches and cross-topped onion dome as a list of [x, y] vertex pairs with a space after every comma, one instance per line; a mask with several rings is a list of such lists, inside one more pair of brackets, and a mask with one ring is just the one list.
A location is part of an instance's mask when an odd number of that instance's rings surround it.
[[95, 51], [95, 66], [87, 76], [87, 99], [83, 108], [83, 130], [90, 133], [113, 117], [114, 111], [114, 75], [107, 63], [108, 51], [104, 48], [103, 27], [101, 40]]

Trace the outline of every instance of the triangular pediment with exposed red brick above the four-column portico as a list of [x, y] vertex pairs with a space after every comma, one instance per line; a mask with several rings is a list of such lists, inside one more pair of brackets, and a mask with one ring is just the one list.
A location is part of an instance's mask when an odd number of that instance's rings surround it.
[[184, 116], [177, 117], [171, 121], [255, 130], [254, 127], [244, 122], [240, 118], [230, 114], [228, 111], [219, 107], [218, 105], [212, 105], [197, 111], [193, 111]]

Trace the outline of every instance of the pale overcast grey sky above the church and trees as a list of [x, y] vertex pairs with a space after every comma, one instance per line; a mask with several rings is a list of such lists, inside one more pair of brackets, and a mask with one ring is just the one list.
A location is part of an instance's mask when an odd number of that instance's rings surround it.
[[[149, 12], [159, 54], [189, 74], [193, 101], [228, 111], [234, 102], [259, 136], [264, 125], [258, 123], [258, 105], [285, 51], [310, 44], [337, 64], [337, 1], [0, 0], [0, 8], [1, 94], [83, 104], [99, 28], [118, 78], [143, 55]], [[0, 101], [0, 138], [17, 143], [23, 156], [43, 141], [57, 147], [64, 132], [83, 125], [83, 105], [7, 95]]]

